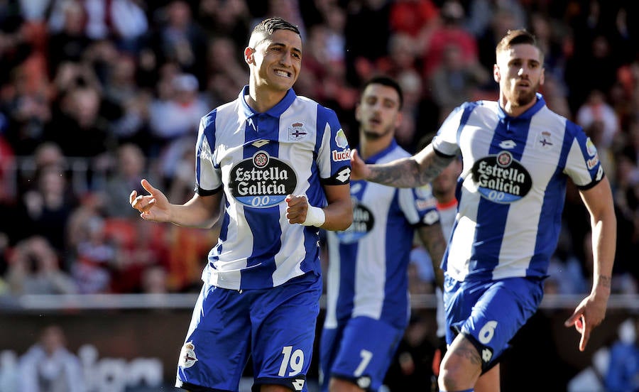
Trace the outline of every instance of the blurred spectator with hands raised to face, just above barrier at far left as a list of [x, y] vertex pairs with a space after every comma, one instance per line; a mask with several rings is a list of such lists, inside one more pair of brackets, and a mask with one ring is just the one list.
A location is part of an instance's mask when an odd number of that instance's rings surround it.
[[16, 244], [9, 256], [6, 281], [13, 295], [77, 293], [71, 276], [60, 269], [55, 249], [41, 236]]

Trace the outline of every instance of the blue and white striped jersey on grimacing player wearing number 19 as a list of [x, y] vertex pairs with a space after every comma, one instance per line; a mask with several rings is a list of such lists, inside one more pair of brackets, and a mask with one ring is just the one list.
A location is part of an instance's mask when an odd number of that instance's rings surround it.
[[319, 230], [290, 224], [287, 195], [327, 204], [322, 185], [350, 179], [350, 148], [337, 115], [293, 89], [265, 113], [244, 100], [202, 117], [196, 146], [196, 192], [224, 188], [219, 241], [202, 280], [234, 290], [269, 288], [321, 273]]

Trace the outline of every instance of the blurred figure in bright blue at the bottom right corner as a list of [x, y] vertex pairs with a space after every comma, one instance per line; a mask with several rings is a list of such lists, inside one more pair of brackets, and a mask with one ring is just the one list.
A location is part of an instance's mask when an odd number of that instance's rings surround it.
[[619, 328], [619, 336], [610, 349], [606, 391], [639, 391], [639, 316], [628, 320], [627, 327]]

